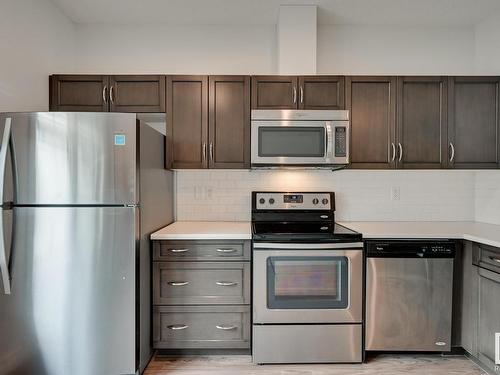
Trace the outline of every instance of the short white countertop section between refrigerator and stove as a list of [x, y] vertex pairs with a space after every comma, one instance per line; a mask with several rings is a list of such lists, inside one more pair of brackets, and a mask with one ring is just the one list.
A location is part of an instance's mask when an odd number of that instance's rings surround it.
[[249, 221], [176, 221], [151, 235], [152, 240], [250, 240]]

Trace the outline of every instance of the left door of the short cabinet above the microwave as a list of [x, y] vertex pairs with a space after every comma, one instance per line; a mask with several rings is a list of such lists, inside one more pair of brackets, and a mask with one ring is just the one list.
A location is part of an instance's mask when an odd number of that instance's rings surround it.
[[253, 109], [297, 109], [297, 77], [252, 77]]

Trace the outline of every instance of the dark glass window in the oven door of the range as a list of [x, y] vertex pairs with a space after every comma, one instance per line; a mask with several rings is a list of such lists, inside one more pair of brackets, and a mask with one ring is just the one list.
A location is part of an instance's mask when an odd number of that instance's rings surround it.
[[348, 301], [346, 257], [269, 257], [269, 309], [345, 309]]

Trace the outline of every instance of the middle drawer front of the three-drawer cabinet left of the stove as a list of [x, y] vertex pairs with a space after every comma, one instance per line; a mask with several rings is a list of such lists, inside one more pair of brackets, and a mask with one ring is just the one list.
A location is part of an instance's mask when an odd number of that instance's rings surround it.
[[250, 301], [250, 264], [155, 262], [156, 305], [245, 304]]

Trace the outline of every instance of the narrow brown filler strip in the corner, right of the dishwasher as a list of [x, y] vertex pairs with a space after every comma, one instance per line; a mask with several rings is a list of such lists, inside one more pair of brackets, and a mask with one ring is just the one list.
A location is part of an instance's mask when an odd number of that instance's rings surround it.
[[472, 242], [465, 241], [462, 251], [461, 337], [462, 347], [477, 356], [477, 324], [479, 304], [478, 268], [472, 264]]

